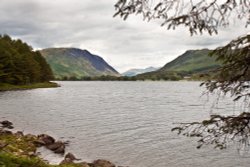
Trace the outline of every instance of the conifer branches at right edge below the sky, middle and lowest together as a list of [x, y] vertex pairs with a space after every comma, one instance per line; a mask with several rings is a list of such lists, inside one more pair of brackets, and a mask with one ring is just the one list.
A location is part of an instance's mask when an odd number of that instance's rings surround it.
[[189, 137], [200, 137], [197, 148], [214, 144], [216, 148], [224, 149], [230, 141], [247, 148], [250, 144], [250, 35], [231, 41], [216, 49], [212, 56], [214, 54], [223, 65], [216, 70], [217, 80], [208, 80], [202, 85], [206, 86], [207, 93], [230, 94], [234, 101], [242, 99], [247, 112], [233, 116], [211, 115], [209, 120], [180, 124], [172, 130]]

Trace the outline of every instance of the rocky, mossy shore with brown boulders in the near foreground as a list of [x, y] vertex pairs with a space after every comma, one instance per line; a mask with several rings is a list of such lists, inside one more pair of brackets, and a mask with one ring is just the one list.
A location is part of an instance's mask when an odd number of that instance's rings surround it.
[[[112, 162], [98, 159], [93, 162], [81, 162], [72, 153], [65, 153], [69, 142], [57, 141], [47, 134], [24, 134], [14, 132], [10, 121], [0, 122], [0, 166], [22, 167], [122, 167]], [[39, 157], [37, 148], [45, 147], [55, 154], [61, 154], [64, 159], [58, 165], [50, 165]]]

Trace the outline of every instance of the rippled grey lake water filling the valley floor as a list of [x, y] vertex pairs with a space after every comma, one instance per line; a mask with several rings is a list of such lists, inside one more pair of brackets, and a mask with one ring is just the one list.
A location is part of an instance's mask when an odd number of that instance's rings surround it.
[[[208, 118], [213, 100], [199, 82], [59, 82], [60, 88], [0, 92], [0, 119], [25, 133], [69, 140], [82, 160], [130, 167], [247, 167], [250, 154], [232, 146], [196, 149], [178, 136], [178, 122]], [[234, 108], [222, 101], [214, 111]], [[230, 112], [233, 112], [230, 110]], [[53, 154], [43, 155], [51, 159]], [[54, 157], [54, 159], [56, 159]]]

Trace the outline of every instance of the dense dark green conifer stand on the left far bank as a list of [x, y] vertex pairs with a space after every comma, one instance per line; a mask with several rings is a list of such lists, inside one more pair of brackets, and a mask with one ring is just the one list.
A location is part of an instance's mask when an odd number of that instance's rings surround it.
[[0, 83], [24, 85], [51, 79], [53, 73], [40, 52], [20, 39], [0, 36]]

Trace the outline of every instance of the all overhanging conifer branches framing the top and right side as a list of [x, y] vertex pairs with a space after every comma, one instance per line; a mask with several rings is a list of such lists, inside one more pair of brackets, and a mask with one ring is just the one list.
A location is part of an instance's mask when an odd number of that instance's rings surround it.
[[[191, 35], [207, 32], [217, 34], [220, 26], [228, 26], [232, 18], [250, 24], [250, 0], [118, 0], [114, 16], [127, 19], [131, 14], [141, 14], [144, 19], [162, 20], [162, 26], [175, 29], [185, 26]], [[240, 146], [250, 144], [250, 35], [232, 40], [224, 47], [215, 49], [211, 56], [222, 62], [222, 67], [213, 71], [214, 80], [201, 85], [207, 93], [219, 92], [231, 95], [234, 101], [242, 100], [246, 110], [239, 115], [211, 115], [210, 119], [201, 122], [181, 123], [172, 129], [178, 134], [198, 137], [200, 148], [214, 144], [224, 149], [230, 141], [239, 142]]]

